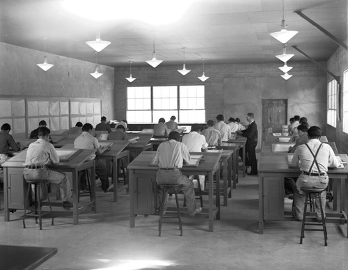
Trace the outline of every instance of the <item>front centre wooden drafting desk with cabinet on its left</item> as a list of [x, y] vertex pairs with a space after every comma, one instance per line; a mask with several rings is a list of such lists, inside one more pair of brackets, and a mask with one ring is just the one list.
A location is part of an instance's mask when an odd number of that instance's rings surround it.
[[[209, 189], [209, 207], [203, 208], [199, 216], [209, 217], [209, 231], [213, 231], [214, 216], [220, 219], [220, 193], [215, 193], [216, 208], [214, 209], [214, 189], [213, 175], [216, 175], [216, 190], [220, 190], [220, 153], [202, 152], [205, 161], [197, 167], [183, 167], [182, 173], [185, 175], [207, 175]], [[135, 226], [135, 217], [138, 214], [154, 215], [156, 214], [157, 204], [157, 184], [156, 173], [157, 166], [150, 166], [150, 161], [155, 158], [156, 152], [141, 152], [131, 164], [129, 164], [129, 196], [130, 196], [130, 227]]]

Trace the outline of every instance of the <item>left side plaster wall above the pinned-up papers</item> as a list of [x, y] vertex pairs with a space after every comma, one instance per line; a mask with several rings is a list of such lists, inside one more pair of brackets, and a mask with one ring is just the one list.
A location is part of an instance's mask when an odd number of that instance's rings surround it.
[[95, 63], [46, 54], [54, 64], [47, 72], [38, 67], [44, 52], [0, 42], [0, 95], [88, 97], [102, 100], [102, 115], [113, 118], [113, 67], [100, 65], [99, 79], [90, 76]]

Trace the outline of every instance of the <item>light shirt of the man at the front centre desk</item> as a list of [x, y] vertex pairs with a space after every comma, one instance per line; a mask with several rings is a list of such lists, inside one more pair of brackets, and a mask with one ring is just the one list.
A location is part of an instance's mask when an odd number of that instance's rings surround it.
[[159, 168], [182, 168], [183, 161], [191, 163], [189, 150], [184, 143], [169, 140], [158, 146], [155, 163]]

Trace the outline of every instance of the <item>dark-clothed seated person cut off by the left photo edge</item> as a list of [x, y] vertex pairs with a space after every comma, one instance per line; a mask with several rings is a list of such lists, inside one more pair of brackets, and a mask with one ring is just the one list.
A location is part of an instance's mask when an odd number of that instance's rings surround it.
[[10, 148], [13, 152], [19, 151], [19, 143], [16, 143], [13, 136], [10, 135], [11, 126], [6, 123], [1, 126], [0, 131], [0, 165], [11, 156]]

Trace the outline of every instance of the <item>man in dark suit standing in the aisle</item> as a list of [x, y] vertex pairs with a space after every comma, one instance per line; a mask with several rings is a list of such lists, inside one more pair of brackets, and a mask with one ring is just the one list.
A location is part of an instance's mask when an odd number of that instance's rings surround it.
[[[258, 145], [258, 126], [254, 121], [254, 113], [247, 113], [246, 120], [249, 122], [248, 128], [237, 133], [247, 138], [245, 163], [246, 166], [251, 166], [251, 171], [248, 175], [258, 175], [258, 161], [256, 161], [255, 154], [255, 148]], [[242, 149], [239, 149], [239, 155], [242, 157]]]

